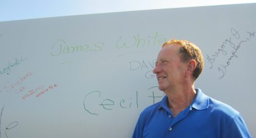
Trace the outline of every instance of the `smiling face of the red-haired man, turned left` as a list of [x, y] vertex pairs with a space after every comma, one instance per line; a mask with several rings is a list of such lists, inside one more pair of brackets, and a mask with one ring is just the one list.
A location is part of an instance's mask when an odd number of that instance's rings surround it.
[[154, 74], [157, 75], [159, 89], [167, 92], [179, 89], [185, 79], [186, 63], [182, 63], [179, 45], [171, 44], [163, 47], [158, 53]]

